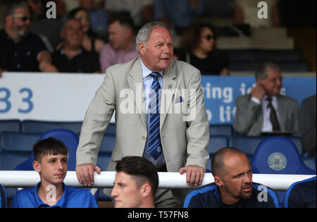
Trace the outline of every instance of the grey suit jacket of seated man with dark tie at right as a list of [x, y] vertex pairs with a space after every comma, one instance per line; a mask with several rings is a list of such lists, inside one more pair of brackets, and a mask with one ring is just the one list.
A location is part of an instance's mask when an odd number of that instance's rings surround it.
[[[299, 135], [297, 101], [280, 94], [277, 100], [281, 130], [293, 131], [293, 135]], [[235, 105], [237, 111], [233, 128], [241, 135], [260, 135], [263, 126], [262, 106], [251, 101], [251, 94], [237, 97]]]

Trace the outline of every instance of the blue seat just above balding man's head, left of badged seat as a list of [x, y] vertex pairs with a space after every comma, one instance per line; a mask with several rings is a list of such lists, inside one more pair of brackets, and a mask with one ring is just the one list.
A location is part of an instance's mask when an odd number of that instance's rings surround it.
[[254, 155], [256, 147], [264, 138], [266, 137], [232, 135], [229, 137], [229, 147], [240, 149], [248, 156], [249, 159], [251, 159], [251, 157]]

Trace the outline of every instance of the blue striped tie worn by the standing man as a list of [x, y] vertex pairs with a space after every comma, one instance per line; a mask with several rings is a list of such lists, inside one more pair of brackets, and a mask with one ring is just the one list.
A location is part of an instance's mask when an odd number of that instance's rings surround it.
[[149, 148], [148, 152], [157, 159], [162, 152], [161, 137], [160, 137], [160, 113], [159, 113], [159, 73], [151, 73], [153, 77], [152, 93], [150, 98], [150, 121], [149, 121]]

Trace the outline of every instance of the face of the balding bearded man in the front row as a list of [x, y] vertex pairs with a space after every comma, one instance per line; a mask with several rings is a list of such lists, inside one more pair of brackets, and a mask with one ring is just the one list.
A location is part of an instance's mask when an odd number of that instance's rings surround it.
[[252, 194], [252, 172], [247, 156], [242, 154], [228, 154], [224, 158], [225, 173], [221, 178], [224, 199], [238, 202], [247, 199]]

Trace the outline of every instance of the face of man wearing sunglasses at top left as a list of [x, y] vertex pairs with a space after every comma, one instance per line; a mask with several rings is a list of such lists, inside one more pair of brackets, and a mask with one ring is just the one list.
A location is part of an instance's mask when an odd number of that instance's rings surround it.
[[11, 20], [10, 30], [20, 37], [25, 37], [31, 29], [30, 11], [28, 8], [16, 8], [8, 18]]

